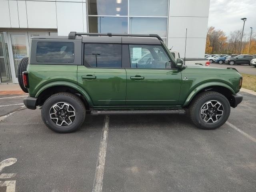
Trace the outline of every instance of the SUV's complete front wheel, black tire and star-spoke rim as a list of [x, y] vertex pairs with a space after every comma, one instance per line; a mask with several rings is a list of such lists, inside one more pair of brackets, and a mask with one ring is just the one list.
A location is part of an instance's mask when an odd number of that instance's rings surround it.
[[228, 120], [230, 103], [218, 92], [202, 92], [191, 101], [189, 114], [192, 122], [199, 128], [216, 129]]

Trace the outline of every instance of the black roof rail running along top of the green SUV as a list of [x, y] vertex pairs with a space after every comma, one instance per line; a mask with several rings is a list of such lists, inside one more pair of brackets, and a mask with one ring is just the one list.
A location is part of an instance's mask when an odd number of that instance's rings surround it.
[[89, 35], [89, 36], [126, 36], [126, 37], [155, 37], [158, 38], [158, 40], [163, 41], [162, 38], [160, 38], [157, 34], [149, 34], [149, 35], [140, 35], [140, 34], [112, 34], [112, 33], [77, 33], [77, 32], [70, 32], [68, 34], [69, 39], [75, 39], [76, 36], [81, 35]]

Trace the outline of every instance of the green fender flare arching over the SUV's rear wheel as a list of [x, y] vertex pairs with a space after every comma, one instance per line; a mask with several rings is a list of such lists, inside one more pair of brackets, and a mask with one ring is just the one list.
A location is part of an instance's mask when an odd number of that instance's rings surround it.
[[93, 103], [92, 103], [92, 100], [91, 100], [89, 94], [83, 88], [81, 88], [77, 84], [74, 84], [71, 82], [65, 82], [65, 81], [51, 82], [51, 83], [48, 83], [48, 84], [42, 86], [38, 90], [38, 92], [36, 92], [35, 97], [37, 98], [44, 90], [46, 90], [47, 88], [50, 88], [50, 87], [54, 87], [54, 86], [68, 86], [68, 87], [76, 89], [78, 92], [80, 92], [84, 96], [84, 98], [88, 102], [89, 106], [93, 106]]

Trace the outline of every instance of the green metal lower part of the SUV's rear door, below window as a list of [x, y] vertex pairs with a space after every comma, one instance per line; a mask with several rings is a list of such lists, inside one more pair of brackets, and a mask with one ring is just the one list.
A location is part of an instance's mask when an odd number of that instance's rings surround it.
[[[95, 79], [84, 79], [94, 76]], [[78, 86], [92, 98], [94, 106], [125, 106], [126, 70], [122, 68], [86, 68], [78, 66]]]

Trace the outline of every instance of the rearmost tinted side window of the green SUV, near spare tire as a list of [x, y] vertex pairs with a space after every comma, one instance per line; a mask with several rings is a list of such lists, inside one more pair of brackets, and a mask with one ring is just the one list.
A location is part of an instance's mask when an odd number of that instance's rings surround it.
[[46, 63], [73, 63], [73, 42], [38, 42], [36, 46], [36, 61]]

